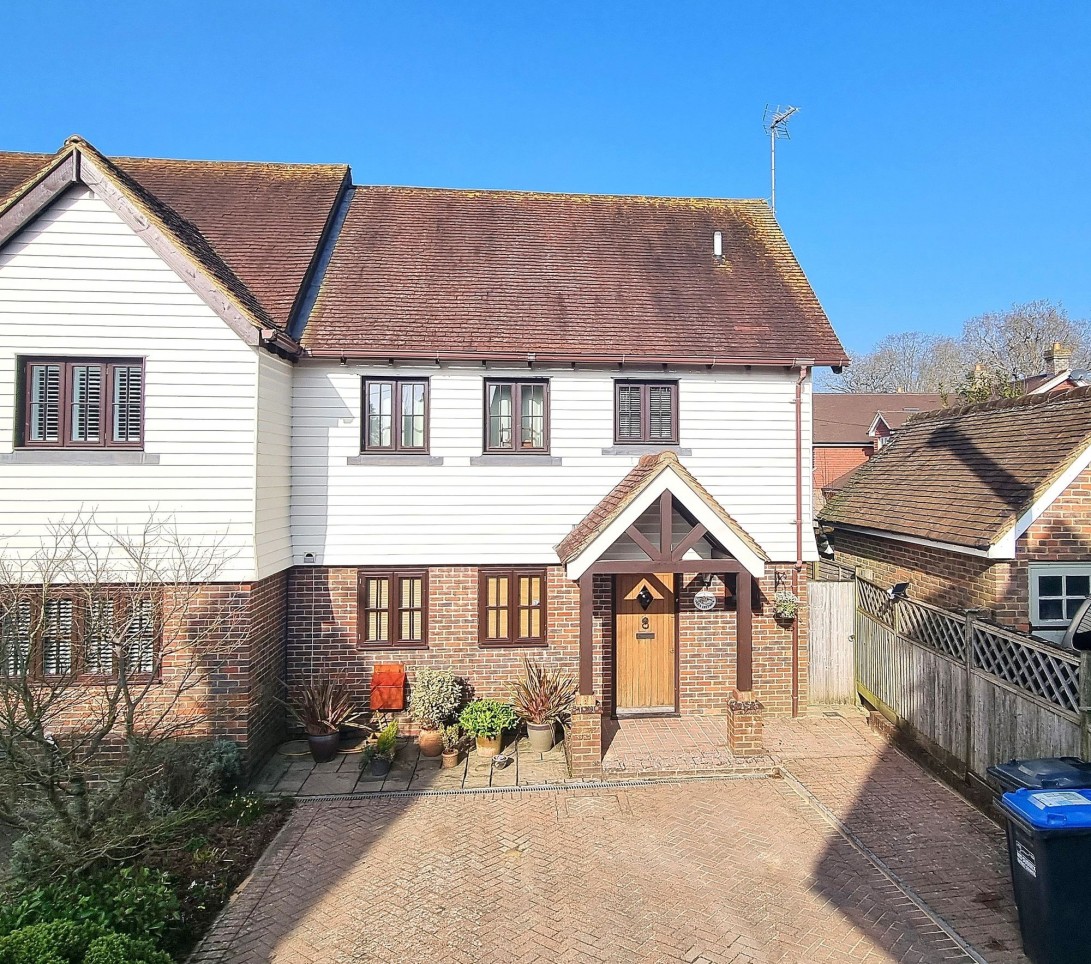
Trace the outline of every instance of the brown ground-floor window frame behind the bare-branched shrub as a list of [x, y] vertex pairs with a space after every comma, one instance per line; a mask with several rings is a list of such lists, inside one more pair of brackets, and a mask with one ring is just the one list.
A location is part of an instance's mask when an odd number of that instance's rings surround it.
[[[94, 600], [98, 599], [112, 599], [116, 606], [120, 603], [120, 607], [113, 614], [115, 626], [118, 626], [121, 619], [129, 618], [127, 615], [128, 607], [137, 599], [149, 599], [152, 601], [154, 619], [152, 634], [152, 668], [147, 671], [130, 671], [125, 678], [140, 683], [160, 679], [163, 671], [161, 602], [154, 593], [142, 593], [139, 597], [133, 597], [125, 592], [111, 592], [109, 590], [96, 593]], [[69, 636], [69, 671], [67, 673], [46, 672], [46, 648], [44, 644], [46, 624], [43, 610], [47, 603], [55, 600], [70, 600], [72, 603], [72, 630]], [[45, 599], [35, 597], [33, 599], [16, 600], [16, 603], [24, 602], [29, 606], [29, 637], [26, 640], [27, 677], [41, 680], [69, 680], [75, 685], [98, 682], [107, 683], [119, 678], [119, 667], [113, 663], [112, 656], [109, 673], [92, 672], [87, 670], [87, 643], [91, 635], [91, 613], [88, 611], [88, 598], [85, 594], [79, 591], [58, 591], [48, 593]], [[4, 618], [4, 616], [5, 614], [0, 613], [0, 619]], [[7, 655], [7, 653], [4, 653], [4, 655]], [[7, 676], [9, 676], [8, 666], [0, 665], [0, 677]]]

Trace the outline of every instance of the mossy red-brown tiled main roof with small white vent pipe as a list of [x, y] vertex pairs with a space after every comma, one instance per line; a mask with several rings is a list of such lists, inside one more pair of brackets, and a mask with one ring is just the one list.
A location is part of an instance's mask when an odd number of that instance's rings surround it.
[[762, 201], [358, 188], [301, 341], [359, 358], [847, 363]]

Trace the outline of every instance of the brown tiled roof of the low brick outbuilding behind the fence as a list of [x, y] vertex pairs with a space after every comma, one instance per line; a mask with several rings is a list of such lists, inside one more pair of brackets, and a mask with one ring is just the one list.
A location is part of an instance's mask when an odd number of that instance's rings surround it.
[[998, 556], [1089, 453], [1091, 388], [928, 412], [861, 466], [819, 518]]

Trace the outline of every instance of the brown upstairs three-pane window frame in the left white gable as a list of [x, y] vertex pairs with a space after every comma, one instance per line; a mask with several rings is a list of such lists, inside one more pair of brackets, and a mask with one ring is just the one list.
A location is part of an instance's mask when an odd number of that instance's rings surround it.
[[[32, 438], [31, 389], [33, 379], [31, 369], [35, 365], [57, 365], [60, 367], [60, 390], [57, 399], [57, 439]], [[101, 399], [98, 408], [99, 439], [97, 442], [73, 442], [70, 439], [72, 429], [72, 378], [73, 369], [97, 366], [101, 370]], [[140, 369], [140, 437], [135, 441], [117, 442], [113, 435], [113, 385], [118, 369]], [[25, 356], [19, 359], [19, 426], [16, 447], [35, 449], [77, 449], [100, 450], [106, 448], [123, 448], [140, 450], [144, 447], [144, 422], [146, 415], [147, 378], [143, 358], [104, 358], [79, 356]]]

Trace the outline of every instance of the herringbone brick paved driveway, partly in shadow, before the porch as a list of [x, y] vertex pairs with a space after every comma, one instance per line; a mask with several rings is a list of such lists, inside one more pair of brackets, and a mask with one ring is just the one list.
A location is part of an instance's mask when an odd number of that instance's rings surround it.
[[196, 961], [1022, 960], [994, 824], [891, 762], [855, 722], [784, 725], [769, 743], [802, 786], [719, 779], [300, 807]]

